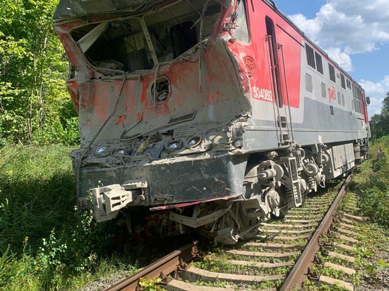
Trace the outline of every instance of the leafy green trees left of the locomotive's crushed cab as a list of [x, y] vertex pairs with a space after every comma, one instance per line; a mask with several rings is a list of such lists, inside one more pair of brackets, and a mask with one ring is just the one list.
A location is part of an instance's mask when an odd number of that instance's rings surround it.
[[[78, 139], [65, 87], [68, 62], [54, 34], [58, 0], [2, 0], [0, 10], [0, 145]], [[67, 115], [60, 117], [60, 112]], [[63, 136], [71, 130], [70, 140]], [[75, 132], [74, 132], [75, 130]]]

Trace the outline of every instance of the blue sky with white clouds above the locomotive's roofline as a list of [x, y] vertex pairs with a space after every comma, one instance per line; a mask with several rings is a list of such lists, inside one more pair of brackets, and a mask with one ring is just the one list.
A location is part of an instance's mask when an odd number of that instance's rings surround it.
[[388, 0], [275, 0], [279, 9], [358, 81], [379, 113], [389, 91]]

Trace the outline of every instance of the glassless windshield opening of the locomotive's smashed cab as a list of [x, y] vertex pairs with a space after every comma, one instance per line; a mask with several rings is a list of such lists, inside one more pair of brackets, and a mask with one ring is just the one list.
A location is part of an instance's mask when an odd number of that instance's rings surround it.
[[[210, 36], [221, 5], [211, 0], [202, 16], [206, 2], [183, 0], [144, 15], [81, 26], [71, 35], [103, 74], [142, 73], [173, 61]], [[165, 94], [161, 97], [166, 98]]]

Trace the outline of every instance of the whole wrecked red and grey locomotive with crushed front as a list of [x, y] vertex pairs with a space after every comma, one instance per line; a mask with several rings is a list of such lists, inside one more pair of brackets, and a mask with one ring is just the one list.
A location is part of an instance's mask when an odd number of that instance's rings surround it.
[[370, 100], [271, 0], [60, 0], [54, 28], [98, 222], [235, 244], [366, 158]]

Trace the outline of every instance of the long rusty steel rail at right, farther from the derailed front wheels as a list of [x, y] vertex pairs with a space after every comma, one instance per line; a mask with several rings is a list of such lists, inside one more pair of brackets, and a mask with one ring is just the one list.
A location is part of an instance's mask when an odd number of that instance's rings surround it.
[[280, 289], [281, 291], [288, 291], [288, 290], [292, 290], [292, 288], [300, 287], [301, 283], [305, 279], [307, 279], [308, 268], [313, 265], [314, 256], [316, 252], [319, 251], [320, 249], [319, 239], [321, 235], [325, 234], [329, 229], [329, 227], [331, 226], [335, 212], [338, 209], [339, 203], [346, 192], [346, 187], [350, 183], [351, 177], [352, 175], [350, 174], [345, 180], [334, 202], [332, 203], [331, 207], [327, 211], [326, 216], [323, 218], [322, 222], [320, 223], [319, 227], [315, 231], [314, 235], [308, 242], [303, 253], [301, 253], [300, 258], [297, 260], [293, 269], [291, 270], [288, 277], [284, 281], [284, 284], [282, 284]]

